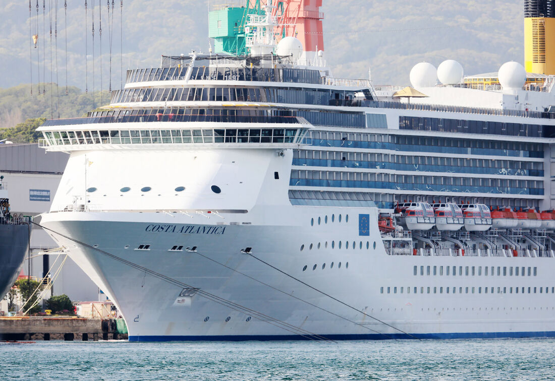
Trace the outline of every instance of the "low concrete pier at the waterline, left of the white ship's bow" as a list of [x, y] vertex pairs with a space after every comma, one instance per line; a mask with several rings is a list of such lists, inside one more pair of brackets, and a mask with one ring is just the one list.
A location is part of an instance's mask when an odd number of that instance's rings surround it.
[[114, 339], [127, 338], [127, 334], [118, 334], [115, 321], [109, 319], [85, 319], [77, 317], [7, 317], [0, 318], [0, 341], [50, 340], [88, 341], [92, 337], [98, 341], [102, 334], [104, 340], [112, 333]]

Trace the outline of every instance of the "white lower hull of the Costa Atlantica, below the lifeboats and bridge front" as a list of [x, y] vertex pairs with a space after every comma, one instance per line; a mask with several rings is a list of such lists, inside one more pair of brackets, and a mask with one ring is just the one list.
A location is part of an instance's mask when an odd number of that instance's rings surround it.
[[[327, 338], [409, 337], [401, 331], [416, 337], [433, 338], [555, 334], [551, 294], [555, 258], [516, 257], [501, 263], [495, 257], [386, 255], [375, 222], [371, 223], [369, 236], [359, 235], [358, 215], [370, 214], [370, 221], [375, 221], [376, 210], [349, 208], [350, 220], [347, 223], [310, 225], [314, 216], [345, 214], [346, 210], [289, 207], [283, 210], [284, 217], [276, 219], [274, 224], [218, 225], [222, 229], [225, 227], [221, 234], [194, 233], [199, 231], [198, 227], [200, 231], [202, 227], [210, 227], [201, 220], [205, 220], [202, 216], [191, 219], [160, 214], [66, 212], [46, 215], [42, 224], [88, 245], [98, 245], [99, 250], [123, 260]], [[265, 212], [269, 211], [253, 210], [249, 217], [251, 220], [257, 216], [262, 219]], [[289, 225], [284, 224], [285, 221], [289, 221]], [[159, 231], [153, 232], [153, 229]], [[54, 237], [60, 245], [69, 248], [72, 259], [118, 305], [127, 321], [132, 341], [304, 338], [297, 332], [262, 321], [254, 313], [236, 311], [236, 308], [210, 301], [200, 294], [180, 298], [183, 286], [130, 268], [67, 238]], [[324, 248], [325, 240], [327, 249]], [[334, 249], [331, 249], [331, 241], [335, 242]], [[355, 241], [355, 248], [351, 243], [347, 249], [344, 243], [339, 249], [339, 241]], [[366, 241], [369, 241], [368, 250]], [[148, 243], [150, 250], [133, 250], [137, 242]], [[168, 248], [177, 243], [197, 246], [197, 252], [169, 252]], [[312, 250], [309, 249], [310, 243], [314, 245]], [[320, 243], [320, 249], [316, 248], [317, 243]], [[126, 245], [130, 247], [124, 248]], [[301, 245], [304, 245], [302, 251]], [[253, 255], [261, 260], [400, 331], [345, 307], [241, 253], [241, 248], [247, 246], [253, 247]], [[331, 262], [334, 262], [333, 268], [330, 268]], [[339, 262], [342, 262], [341, 268], [338, 268]], [[326, 266], [322, 269], [324, 263]], [[314, 265], [316, 270], [312, 270]], [[477, 275], [478, 266], [497, 269], [499, 265], [537, 267], [537, 275]], [[302, 271], [304, 266], [307, 268]], [[417, 275], [413, 275], [414, 266]], [[434, 276], [424, 272], [421, 276], [421, 266], [436, 268], [433, 272], [439, 271], [440, 266], [456, 266], [457, 273], [447, 276], [437, 272]], [[462, 276], [458, 273], [460, 266]], [[472, 270], [476, 271], [474, 276], [471, 273], [465, 275], [467, 266], [476, 269]], [[411, 293], [407, 293], [407, 287]], [[416, 294], [413, 293], [414, 287], [417, 288]], [[428, 287], [430, 293], [427, 293]], [[447, 287], [455, 287], [456, 298], [446, 292]], [[459, 294], [461, 287], [462, 295]], [[493, 288], [494, 292], [485, 293], [483, 289], [486, 287]], [[517, 294], [511, 288], [512, 293], [509, 293], [509, 287], [518, 287], [519, 291], [524, 287], [525, 292]], [[528, 293], [528, 287], [532, 290], [535, 287], [537, 292]], [[539, 293], [539, 287], [542, 287], [542, 293]], [[543, 291], [546, 287], [549, 293]]]

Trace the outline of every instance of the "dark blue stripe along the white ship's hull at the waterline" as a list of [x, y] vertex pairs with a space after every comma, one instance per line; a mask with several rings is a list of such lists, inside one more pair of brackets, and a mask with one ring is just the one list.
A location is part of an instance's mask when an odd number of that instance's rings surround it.
[[[384, 340], [391, 339], [492, 339], [518, 337], [555, 337], [555, 331], [539, 332], [460, 332], [460, 333], [402, 333], [391, 334], [387, 337], [381, 334], [329, 334], [322, 335], [331, 340]], [[133, 342], [162, 342], [162, 341], [279, 341], [279, 340], [309, 340], [298, 335], [221, 335], [221, 336], [129, 336]]]

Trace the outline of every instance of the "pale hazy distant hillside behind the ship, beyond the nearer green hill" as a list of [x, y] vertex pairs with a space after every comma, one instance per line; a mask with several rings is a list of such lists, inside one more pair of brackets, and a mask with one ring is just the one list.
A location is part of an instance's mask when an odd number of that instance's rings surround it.
[[[37, 18], [33, 7], [31, 32], [39, 34], [34, 48], [29, 44], [28, 3], [0, 2], [0, 88], [31, 83], [31, 68], [34, 83], [40, 78], [41, 82], [65, 85], [66, 31], [69, 84], [89, 91], [100, 89], [102, 67], [102, 88], [110, 87], [111, 37], [111, 85], [119, 88], [122, 67], [124, 72], [127, 68], [159, 65], [161, 54], [186, 54], [199, 48], [208, 51], [208, 9], [221, 2], [125, 0], [122, 24], [121, 2], [115, 2], [113, 13], [110, 9], [113, 18], [109, 23], [105, 3], [89, 0], [85, 19], [84, 0], [68, 1], [67, 29], [63, 2], [46, 3], [47, 7], [49, 3], [58, 4], [58, 17], [55, 12], [48, 14], [48, 9], [43, 17], [41, 3]], [[94, 65], [92, 4], [96, 4]], [[523, 60], [522, 0], [324, 0], [322, 11], [325, 57], [336, 77], [367, 78], [371, 67], [375, 83], [407, 84], [410, 68], [422, 60], [438, 65], [444, 59], [456, 59], [468, 74], [493, 72], [508, 60]], [[58, 31], [58, 38], [53, 37], [53, 59], [49, 59], [49, 16], [53, 16], [53, 30]]]

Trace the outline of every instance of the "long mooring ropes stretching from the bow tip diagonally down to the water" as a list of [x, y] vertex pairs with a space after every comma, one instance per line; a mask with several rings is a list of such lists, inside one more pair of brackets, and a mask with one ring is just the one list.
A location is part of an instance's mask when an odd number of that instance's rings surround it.
[[193, 287], [193, 286], [188, 285], [188, 284], [186, 284], [186, 283], [183, 283], [183, 282], [180, 282], [180, 281], [178, 281], [178, 280], [175, 280], [174, 278], [170, 278], [170, 277], [165, 276], [165, 275], [163, 275], [163, 274], [161, 274], [161, 273], [158, 273], [158, 272], [155, 272], [155, 271], [153, 271], [153, 270], [150, 270], [150, 269], [147, 268], [147, 267], [140, 266], [140, 265], [138, 265], [137, 263], [130, 262], [130, 261], [128, 261], [128, 260], [124, 260], [124, 259], [121, 258], [121, 257], [118, 257], [118, 256], [116, 256], [116, 255], [113, 255], [113, 254], [111, 254], [111, 253], [109, 253], [109, 252], [107, 252], [107, 251], [100, 250], [100, 249], [97, 248], [97, 247], [90, 246], [90, 245], [88, 245], [88, 243], [85, 243], [85, 242], [76, 240], [75, 238], [69, 237], [69, 236], [64, 235], [64, 234], [62, 234], [62, 233], [60, 233], [60, 232], [57, 232], [57, 231], [55, 231], [55, 230], [52, 230], [51, 228], [48, 228], [48, 227], [43, 226], [43, 225], [40, 225], [40, 224], [37, 223], [37, 222], [31, 221], [31, 223], [33, 223], [33, 225], [37, 225], [37, 226], [39, 226], [39, 227], [42, 227], [44, 230], [51, 231], [51, 232], [53, 232], [54, 234], [56, 234], [56, 235], [58, 235], [58, 236], [60, 236], [60, 237], [64, 237], [64, 238], [66, 238], [67, 240], [70, 240], [70, 241], [73, 241], [73, 242], [75, 242], [75, 243], [78, 243], [79, 245], [81, 245], [81, 246], [83, 246], [83, 247], [86, 247], [86, 248], [88, 248], [89, 250], [96, 251], [96, 252], [98, 252], [98, 253], [101, 253], [102, 255], [105, 255], [105, 256], [107, 256], [107, 257], [109, 257], [109, 258], [112, 258], [112, 259], [115, 260], [115, 261], [118, 261], [118, 262], [120, 262], [120, 263], [123, 263], [124, 265], [127, 265], [127, 266], [129, 266], [129, 267], [132, 267], [132, 268], [134, 268], [135, 270], [139, 270], [140, 272], [145, 273], [145, 275], [148, 274], [148, 275], [150, 275], [150, 276], [153, 276], [153, 277], [155, 277], [155, 278], [158, 278], [159, 280], [162, 280], [162, 281], [164, 281], [164, 282], [166, 282], [166, 283], [169, 283], [169, 284], [171, 284], [171, 285], [174, 285], [174, 286], [179, 286], [179, 287], [183, 287], [183, 288], [191, 288], [191, 289], [194, 289], [194, 290], [196, 291], [196, 293], [198, 293], [200, 296], [202, 296], [202, 297], [204, 297], [204, 298], [206, 298], [206, 299], [208, 299], [208, 300], [210, 300], [210, 301], [213, 301], [213, 302], [215, 302], [215, 303], [218, 303], [218, 304], [220, 304], [221, 306], [228, 307], [228, 308], [233, 309], [234, 311], [237, 311], [237, 312], [243, 312], [243, 313], [245, 313], [245, 314], [248, 314], [249, 316], [253, 316], [253, 317], [259, 319], [260, 321], [266, 322], [266, 323], [268, 323], [268, 324], [271, 324], [272, 326], [275, 326], [275, 327], [284, 329], [285, 331], [288, 331], [288, 332], [297, 334], [297, 335], [299, 335], [299, 336], [301, 336], [301, 337], [304, 337], [304, 338], [307, 338], [307, 339], [310, 339], [310, 340], [315, 340], [315, 341], [331, 341], [331, 342], [334, 342], [334, 341], [330, 340], [329, 338], [326, 338], [326, 337], [324, 337], [324, 336], [321, 336], [320, 334], [316, 334], [316, 333], [307, 331], [306, 329], [303, 329], [303, 328], [300, 328], [300, 327], [296, 327], [296, 326], [294, 326], [294, 325], [292, 325], [292, 324], [286, 323], [286, 322], [281, 321], [281, 320], [279, 320], [279, 319], [277, 319], [277, 318], [268, 316], [268, 315], [266, 315], [266, 314], [264, 314], [264, 313], [262, 313], [262, 312], [256, 311], [256, 310], [251, 309], [251, 308], [248, 308], [248, 307], [241, 306], [241, 304], [238, 304], [238, 303], [235, 303], [235, 302], [231, 302], [231, 301], [229, 301], [229, 300], [227, 300], [227, 299], [224, 299], [224, 298], [221, 298], [221, 297], [219, 297], [219, 296], [216, 296], [215, 294], [212, 294], [212, 293], [209, 293], [209, 292], [207, 292], [207, 291], [204, 291], [203, 289]]

